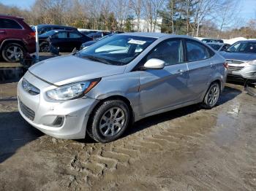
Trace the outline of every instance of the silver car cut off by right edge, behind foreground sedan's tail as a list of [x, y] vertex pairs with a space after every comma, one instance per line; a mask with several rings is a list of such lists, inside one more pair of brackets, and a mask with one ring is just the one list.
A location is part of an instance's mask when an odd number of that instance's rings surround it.
[[256, 41], [239, 41], [225, 52], [220, 52], [228, 62], [228, 76], [256, 80]]

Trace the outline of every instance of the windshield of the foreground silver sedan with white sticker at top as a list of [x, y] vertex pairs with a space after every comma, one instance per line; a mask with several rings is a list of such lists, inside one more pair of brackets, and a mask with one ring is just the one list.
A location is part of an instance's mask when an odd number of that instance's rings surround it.
[[111, 65], [125, 65], [155, 40], [142, 36], [113, 35], [81, 50], [77, 56]]

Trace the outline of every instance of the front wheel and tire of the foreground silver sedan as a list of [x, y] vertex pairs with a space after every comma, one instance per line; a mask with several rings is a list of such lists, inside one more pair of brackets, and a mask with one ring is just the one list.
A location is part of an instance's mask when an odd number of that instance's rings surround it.
[[94, 109], [86, 131], [95, 141], [107, 143], [118, 139], [124, 133], [129, 120], [129, 107], [124, 101], [104, 101]]

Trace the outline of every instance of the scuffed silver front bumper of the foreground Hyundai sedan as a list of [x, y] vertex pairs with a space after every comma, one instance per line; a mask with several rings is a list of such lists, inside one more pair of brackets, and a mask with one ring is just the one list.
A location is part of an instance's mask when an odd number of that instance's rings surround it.
[[[18, 110], [21, 116], [35, 128], [60, 139], [83, 139], [86, 136], [86, 125], [89, 114], [97, 100], [93, 98], [79, 98], [69, 101], [48, 101], [44, 95], [44, 88], [49, 85], [27, 72], [25, 78], [41, 90], [39, 95], [30, 95], [18, 82]], [[34, 112], [34, 113], [33, 113]], [[33, 117], [34, 114], [34, 117]], [[56, 120], [61, 122], [56, 125]]]

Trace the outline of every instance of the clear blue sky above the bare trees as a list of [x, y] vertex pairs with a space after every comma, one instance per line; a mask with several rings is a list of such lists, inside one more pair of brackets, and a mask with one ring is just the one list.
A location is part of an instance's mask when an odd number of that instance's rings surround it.
[[[2, 4], [17, 6], [22, 9], [29, 9], [35, 0], [0, 0]], [[238, 1], [238, 0], [233, 0]], [[244, 20], [256, 18], [256, 0], [241, 0], [241, 11], [239, 14]]]

